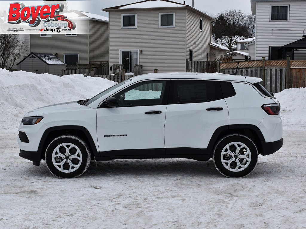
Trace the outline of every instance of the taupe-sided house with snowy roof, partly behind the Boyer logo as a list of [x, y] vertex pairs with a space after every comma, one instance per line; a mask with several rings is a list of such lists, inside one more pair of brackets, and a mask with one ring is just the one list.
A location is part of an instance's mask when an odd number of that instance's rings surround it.
[[75, 22], [76, 30], [31, 34], [31, 52], [52, 53], [70, 65], [108, 61], [108, 18], [80, 11], [64, 15]]

